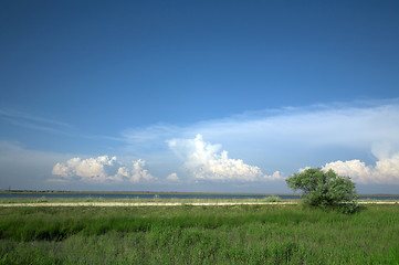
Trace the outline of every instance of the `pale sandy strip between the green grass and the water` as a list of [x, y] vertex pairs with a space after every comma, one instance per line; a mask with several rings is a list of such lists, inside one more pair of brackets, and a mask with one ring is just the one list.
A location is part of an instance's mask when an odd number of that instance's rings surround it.
[[[370, 201], [359, 204], [398, 204], [398, 201]], [[1, 203], [0, 206], [230, 206], [230, 205], [291, 205], [297, 202], [32, 202], [32, 203]]]

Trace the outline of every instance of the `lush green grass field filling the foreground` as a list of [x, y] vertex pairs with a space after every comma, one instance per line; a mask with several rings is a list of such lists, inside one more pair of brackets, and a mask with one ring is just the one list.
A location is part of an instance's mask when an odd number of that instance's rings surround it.
[[398, 264], [399, 208], [0, 209], [0, 264]]

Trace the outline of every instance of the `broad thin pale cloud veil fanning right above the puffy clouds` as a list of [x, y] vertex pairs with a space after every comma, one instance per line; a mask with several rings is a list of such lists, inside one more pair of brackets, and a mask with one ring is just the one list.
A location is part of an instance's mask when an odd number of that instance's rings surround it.
[[[387, 148], [376, 145], [381, 141], [389, 144], [391, 153], [398, 152], [398, 117], [399, 99], [335, 103], [245, 113], [181, 127], [154, 125], [126, 130], [124, 137], [136, 153], [153, 151], [171, 160], [161, 144], [200, 134], [210, 142], [221, 144], [230, 156], [234, 153], [262, 169], [294, 172], [304, 165], [317, 167], [338, 159], [371, 163], [370, 148]], [[186, 160], [187, 153], [181, 152], [177, 155]], [[168, 165], [171, 162], [176, 161]]]

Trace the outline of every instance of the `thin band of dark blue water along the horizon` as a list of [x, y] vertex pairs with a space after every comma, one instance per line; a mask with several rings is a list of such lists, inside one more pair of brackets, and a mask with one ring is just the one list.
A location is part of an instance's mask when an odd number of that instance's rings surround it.
[[[123, 193], [0, 193], [0, 198], [104, 198], [104, 199], [264, 199], [273, 195], [258, 194], [123, 194]], [[279, 195], [283, 200], [300, 199], [300, 195]], [[359, 200], [399, 200], [399, 195], [359, 195]]]

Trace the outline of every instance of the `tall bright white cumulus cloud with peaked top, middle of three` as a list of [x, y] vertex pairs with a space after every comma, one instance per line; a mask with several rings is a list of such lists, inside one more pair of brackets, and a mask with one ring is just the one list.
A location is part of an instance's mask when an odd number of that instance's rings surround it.
[[241, 159], [231, 159], [225, 150], [219, 152], [220, 146], [203, 141], [201, 135], [195, 139], [172, 139], [168, 145], [198, 180], [254, 181], [263, 174], [259, 167], [246, 165]]

